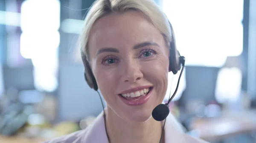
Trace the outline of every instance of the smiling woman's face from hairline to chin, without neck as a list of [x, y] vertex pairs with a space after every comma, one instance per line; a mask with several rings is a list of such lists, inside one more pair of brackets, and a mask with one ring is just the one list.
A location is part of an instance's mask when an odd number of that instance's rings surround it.
[[[94, 23], [88, 47], [91, 68], [108, 109], [125, 121], [151, 118], [168, 83], [169, 50], [160, 31], [140, 12], [113, 13]], [[131, 98], [144, 88], [149, 93]], [[122, 93], [130, 97], [125, 99]]]

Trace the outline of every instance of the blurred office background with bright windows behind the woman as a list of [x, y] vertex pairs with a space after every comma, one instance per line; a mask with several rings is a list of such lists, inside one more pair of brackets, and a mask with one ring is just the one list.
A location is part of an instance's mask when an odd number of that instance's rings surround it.
[[[66, 135], [102, 111], [77, 49], [93, 1], [0, 0], [0, 143]], [[211, 143], [256, 143], [256, 0], [155, 1], [186, 57], [173, 115]]]

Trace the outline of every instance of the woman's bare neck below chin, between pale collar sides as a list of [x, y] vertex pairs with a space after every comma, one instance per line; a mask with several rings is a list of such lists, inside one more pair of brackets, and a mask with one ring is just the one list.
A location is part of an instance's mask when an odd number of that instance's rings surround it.
[[111, 143], [159, 143], [163, 130], [162, 123], [153, 118], [143, 123], [127, 122], [109, 107], [106, 110], [106, 126]]

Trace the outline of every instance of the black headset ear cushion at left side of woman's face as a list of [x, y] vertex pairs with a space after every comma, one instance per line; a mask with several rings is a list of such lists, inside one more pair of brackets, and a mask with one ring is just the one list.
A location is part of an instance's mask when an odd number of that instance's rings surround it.
[[84, 79], [85, 79], [85, 81], [87, 82], [87, 84], [89, 85], [90, 88], [93, 88], [94, 90], [97, 91], [98, 90], [98, 85], [97, 85], [96, 79], [93, 76], [93, 72], [90, 68], [90, 64], [87, 61], [87, 58], [86, 58], [83, 51], [81, 51], [81, 57], [82, 57], [82, 60], [83, 60], [83, 63], [84, 63]]

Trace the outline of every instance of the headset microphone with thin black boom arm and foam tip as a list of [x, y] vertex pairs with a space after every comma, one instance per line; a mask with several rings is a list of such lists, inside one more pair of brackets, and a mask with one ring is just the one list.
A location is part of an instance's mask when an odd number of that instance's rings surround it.
[[[178, 83], [177, 83], [177, 87], [175, 89], [175, 92], [173, 93], [172, 97], [169, 98], [169, 100], [166, 104], [159, 104], [152, 111], [152, 117], [156, 121], [163, 121], [169, 115], [169, 112], [170, 112], [169, 104], [171, 103], [172, 99], [174, 98], [174, 96], [177, 93], [177, 90], [178, 90], [178, 87], [179, 87], [179, 84], [180, 84], [180, 77], [181, 77], [181, 75], [183, 73], [183, 70], [184, 70], [184, 67], [185, 67], [185, 57], [184, 56], [180, 56], [180, 62], [182, 64], [182, 69], [181, 69], [181, 72], [180, 72], [180, 76], [179, 76], [179, 79], [178, 79]], [[171, 95], [171, 93], [170, 93], [170, 95]]]

